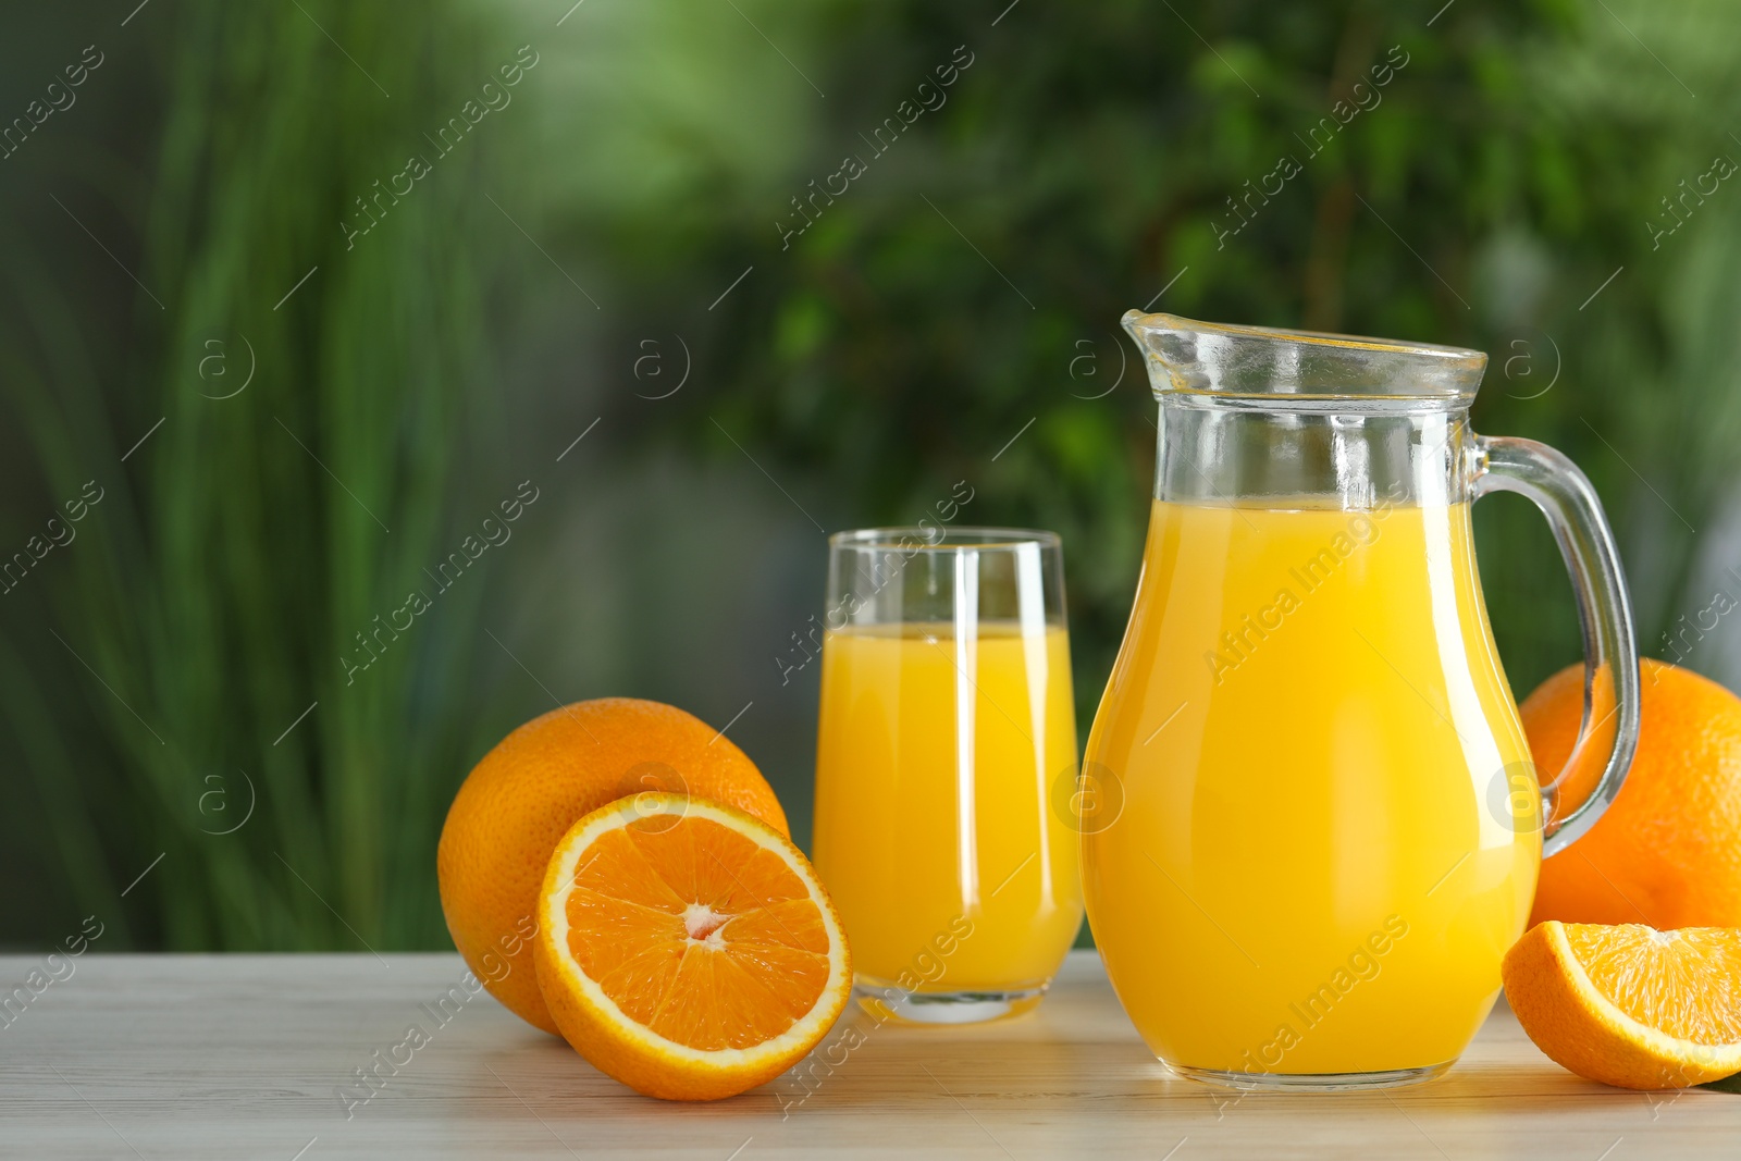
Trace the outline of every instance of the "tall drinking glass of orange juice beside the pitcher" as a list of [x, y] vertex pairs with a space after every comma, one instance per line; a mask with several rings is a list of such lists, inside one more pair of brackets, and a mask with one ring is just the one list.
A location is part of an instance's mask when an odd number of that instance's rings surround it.
[[924, 1023], [1025, 1011], [1083, 916], [1078, 836], [1052, 808], [1076, 778], [1059, 538], [829, 547], [815, 862], [860, 1003]]

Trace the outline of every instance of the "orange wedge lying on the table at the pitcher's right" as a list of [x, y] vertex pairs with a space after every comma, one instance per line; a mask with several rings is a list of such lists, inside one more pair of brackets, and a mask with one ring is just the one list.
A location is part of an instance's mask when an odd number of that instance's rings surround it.
[[1501, 976], [1536, 1046], [1619, 1088], [1685, 1088], [1741, 1072], [1741, 928], [1537, 924]]

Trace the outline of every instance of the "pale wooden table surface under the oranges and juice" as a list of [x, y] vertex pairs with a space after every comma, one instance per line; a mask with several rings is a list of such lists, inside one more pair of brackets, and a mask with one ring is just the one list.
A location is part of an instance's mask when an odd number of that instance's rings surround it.
[[[1536, 1051], [1504, 1008], [1450, 1076], [1421, 1088], [1241, 1098], [1173, 1079], [1137, 1039], [1093, 952], [1071, 954], [1032, 1015], [956, 1029], [848, 1015], [864, 1041], [837, 1046], [834, 1064], [818, 1062], [808, 1088], [789, 1074], [709, 1105], [622, 1088], [487, 994], [437, 1010], [463, 973], [451, 954], [89, 954], [75, 963], [71, 976], [0, 1027], [0, 1156], [1741, 1154], [1741, 1097], [1581, 1081]], [[40, 966], [0, 957], [0, 990]], [[428, 1043], [399, 1048], [411, 1025]], [[839, 1044], [848, 1039], [857, 1037]], [[374, 1065], [378, 1050], [388, 1064], [371, 1095], [355, 1070]]]

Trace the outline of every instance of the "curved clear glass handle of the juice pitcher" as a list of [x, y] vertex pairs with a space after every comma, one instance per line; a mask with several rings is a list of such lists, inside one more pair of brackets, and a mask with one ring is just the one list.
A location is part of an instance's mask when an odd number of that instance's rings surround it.
[[[1572, 574], [1577, 620], [1584, 630], [1584, 719], [1565, 766], [1541, 789], [1546, 820], [1543, 856], [1548, 856], [1596, 825], [1621, 792], [1638, 748], [1638, 642], [1631, 597], [1602, 501], [1576, 463], [1532, 439], [1478, 435], [1475, 446], [1476, 498], [1494, 491], [1520, 493], [1548, 517]], [[1569, 783], [1583, 782], [1577, 775], [1590, 769], [1591, 755], [1602, 747], [1607, 747], [1607, 762], [1595, 785], [1562, 816]]]

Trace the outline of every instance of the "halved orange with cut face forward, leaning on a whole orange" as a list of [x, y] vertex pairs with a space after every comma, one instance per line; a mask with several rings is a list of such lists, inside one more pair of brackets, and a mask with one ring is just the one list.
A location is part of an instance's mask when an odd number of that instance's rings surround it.
[[705, 799], [637, 794], [576, 822], [538, 916], [538, 987], [562, 1036], [649, 1097], [771, 1081], [851, 990], [839, 916], [804, 856]]

